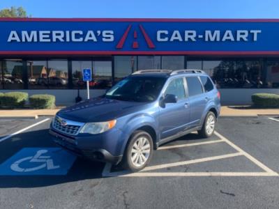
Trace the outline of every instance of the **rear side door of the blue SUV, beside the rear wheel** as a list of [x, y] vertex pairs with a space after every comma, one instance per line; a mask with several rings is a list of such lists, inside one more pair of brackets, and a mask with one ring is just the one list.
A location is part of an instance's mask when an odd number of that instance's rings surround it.
[[190, 127], [196, 127], [201, 123], [202, 114], [206, 107], [207, 98], [204, 94], [204, 88], [197, 76], [186, 77], [187, 89], [190, 106]]

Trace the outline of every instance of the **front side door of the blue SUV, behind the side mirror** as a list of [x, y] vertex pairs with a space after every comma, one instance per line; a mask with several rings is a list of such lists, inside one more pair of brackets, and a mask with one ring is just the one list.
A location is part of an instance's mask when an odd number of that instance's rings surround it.
[[188, 99], [186, 98], [185, 87], [185, 78], [178, 77], [170, 80], [165, 91], [163, 90], [163, 97], [167, 94], [174, 94], [178, 98], [178, 101], [176, 103], [160, 105], [159, 125], [161, 139], [171, 137], [187, 129], [190, 109]]

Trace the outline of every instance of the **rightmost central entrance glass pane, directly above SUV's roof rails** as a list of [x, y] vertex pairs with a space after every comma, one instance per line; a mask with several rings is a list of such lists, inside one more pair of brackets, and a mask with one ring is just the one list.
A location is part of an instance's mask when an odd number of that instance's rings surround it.
[[162, 69], [165, 70], [184, 69], [184, 56], [162, 56]]

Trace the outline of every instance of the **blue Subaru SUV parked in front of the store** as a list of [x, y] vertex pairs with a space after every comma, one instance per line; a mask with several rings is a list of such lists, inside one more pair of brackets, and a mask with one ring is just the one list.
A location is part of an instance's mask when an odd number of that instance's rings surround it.
[[50, 134], [74, 153], [140, 171], [167, 141], [193, 131], [210, 137], [219, 113], [220, 93], [202, 70], [140, 70], [61, 109]]

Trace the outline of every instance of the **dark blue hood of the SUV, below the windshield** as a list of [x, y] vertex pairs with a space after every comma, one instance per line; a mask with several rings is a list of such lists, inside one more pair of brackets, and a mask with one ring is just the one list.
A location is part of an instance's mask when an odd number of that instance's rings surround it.
[[150, 103], [93, 98], [61, 109], [57, 115], [68, 120], [84, 123], [102, 122], [135, 113], [148, 105]]

